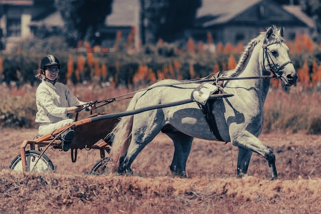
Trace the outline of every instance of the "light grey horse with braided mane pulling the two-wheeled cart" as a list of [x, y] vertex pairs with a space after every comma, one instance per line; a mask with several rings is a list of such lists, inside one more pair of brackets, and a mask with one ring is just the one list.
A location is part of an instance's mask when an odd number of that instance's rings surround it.
[[[174, 143], [170, 170], [181, 177], [187, 177], [186, 162], [192, 141], [198, 138], [231, 142], [237, 146], [237, 177], [247, 173], [252, 152], [256, 152], [267, 160], [271, 179], [276, 179], [275, 155], [258, 136], [263, 129], [263, 108], [270, 86], [270, 79], [264, 77], [272, 72], [285, 86], [294, 85], [298, 77], [289, 59], [283, 32], [283, 27], [275, 26], [260, 32], [245, 47], [235, 69], [224, 71], [227, 81], [223, 82], [222, 88], [234, 96], [218, 99], [211, 106], [210, 113], [214, 116], [218, 134], [213, 133], [195, 102], [125, 116], [111, 132], [114, 141], [110, 158], [114, 170], [119, 174], [132, 174], [130, 167], [138, 153], [162, 131]], [[192, 91], [199, 86], [177, 83], [177, 80], [162, 80], [150, 89], [138, 91], [127, 110], [190, 99]]]

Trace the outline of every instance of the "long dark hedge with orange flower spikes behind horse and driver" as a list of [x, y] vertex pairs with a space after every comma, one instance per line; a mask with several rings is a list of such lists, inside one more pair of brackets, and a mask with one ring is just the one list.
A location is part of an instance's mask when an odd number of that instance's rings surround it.
[[[299, 38], [299, 37], [297, 37]], [[321, 49], [311, 43], [306, 36], [304, 40], [290, 41], [290, 59], [294, 67], [299, 71], [305, 71], [304, 76], [299, 76], [306, 87], [314, 87], [319, 82], [317, 67], [320, 66]], [[125, 41], [125, 40], [124, 40]], [[30, 83], [33, 85], [37, 80], [33, 75], [38, 68], [39, 61], [44, 55], [52, 53], [61, 61], [62, 70], [59, 74], [61, 82], [82, 83], [84, 81], [112, 82], [115, 85], [126, 85], [133, 83], [133, 78], [138, 72], [139, 66], [147, 66], [149, 74], [159, 77], [173, 79], [190, 79], [204, 77], [214, 70], [227, 70], [233, 68], [239, 59], [242, 49], [223, 44], [216, 52], [196, 50], [192, 40], [185, 42], [177, 41], [173, 44], [164, 43], [159, 40], [156, 45], [147, 44], [140, 51], [126, 51], [127, 49], [115, 49], [114, 52], [99, 52], [99, 47], [90, 48], [88, 43], [79, 43], [78, 51], [69, 49], [62, 37], [50, 37], [45, 40], [26, 40], [19, 44], [13, 52], [4, 53], [1, 56], [2, 70], [0, 69], [0, 82], [15, 82], [17, 86]], [[119, 44], [118, 44], [119, 45]], [[193, 51], [191, 51], [193, 49]], [[222, 50], [221, 50], [222, 49]], [[86, 50], [90, 50], [86, 52]], [[225, 50], [225, 51], [224, 51]], [[229, 50], [229, 51], [227, 51]], [[304, 51], [302, 51], [304, 50]], [[83, 52], [82, 52], [83, 51]], [[235, 59], [235, 62], [234, 60]], [[0, 60], [0, 63], [1, 63]], [[82, 62], [80, 62], [80, 60]], [[179, 64], [175, 69], [175, 75], [167, 75], [166, 69]], [[82, 69], [79, 69], [82, 66]], [[1, 65], [0, 65], [1, 67]], [[235, 66], [234, 66], [235, 67]], [[100, 72], [100, 70], [105, 72]], [[190, 69], [193, 69], [191, 71]], [[69, 72], [67, 75], [67, 71]], [[191, 76], [193, 73], [193, 76]], [[32, 74], [32, 75], [31, 75]], [[302, 75], [302, 74], [300, 74]], [[150, 79], [155, 79], [151, 77]], [[156, 79], [157, 80], [157, 79]], [[150, 80], [143, 84], [152, 83]], [[142, 84], [142, 83], [139, 83]], [[274, 87], [278, 87], [274, 85]]]

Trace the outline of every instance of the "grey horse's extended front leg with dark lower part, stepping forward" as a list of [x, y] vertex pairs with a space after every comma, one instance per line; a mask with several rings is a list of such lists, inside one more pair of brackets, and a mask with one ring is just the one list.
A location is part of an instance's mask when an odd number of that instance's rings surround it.
[[[243, 147], [245, 149], [248, 149], [250, 151], [254, 151], [260, 155], [262, 155], [269, 164], [270, 173], [271, 173], [271, 179], [277, 178], [277, 172], [275, 167], [275, 155], [273, 151], [264, 145], [260, 140], [258, 140], [253, 134], [251, 134], [248, 131], [243, 131], [240, 134], [237, 134], [236, 137], [232, 138], [231, 142], [234, 146]], [[242, 159], [242, 156], [244, 156], [242, 153], [240, 154], [240, 160], [241, 162], [237, 164], [237, 167], [243, 167], [241, 166], [244, 160], [246, 160], [246, 155]], [[243, 161], [242, 161], [243, 160]], [[245, 167], [243, 167], [245, 169]], [[247, 166], [246, 166], [247, 170]]]

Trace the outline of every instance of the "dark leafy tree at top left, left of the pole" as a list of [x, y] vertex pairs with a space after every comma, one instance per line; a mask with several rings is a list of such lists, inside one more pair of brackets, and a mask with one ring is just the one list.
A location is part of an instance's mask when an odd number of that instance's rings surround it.
[[65, 21], [65, 36], [69, 45], [78, 41], [95, 43], [98, 27], [112, 11], [113, 0], [55, 0], [55, 7]]

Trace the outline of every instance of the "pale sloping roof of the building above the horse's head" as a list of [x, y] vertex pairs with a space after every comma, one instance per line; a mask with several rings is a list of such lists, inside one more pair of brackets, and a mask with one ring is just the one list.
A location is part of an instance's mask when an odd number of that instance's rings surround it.
[[[262, 0], [203, 0], [196, 18], [208, 17], [203, 27], [223, 24]], [[212, 18], [211, 18], [212, 17]]]

